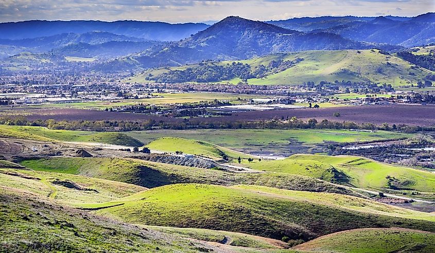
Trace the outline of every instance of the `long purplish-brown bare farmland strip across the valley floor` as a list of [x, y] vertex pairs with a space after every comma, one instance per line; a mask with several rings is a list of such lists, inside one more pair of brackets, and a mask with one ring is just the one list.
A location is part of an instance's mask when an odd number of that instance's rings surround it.
[[[11, 111], [12, 110], [12, 111]], [[340, 117], [334, 116], [335, 112], [340, 113]], [[181, 118], [161, 117], [157, 115], [143, 115], [138, 113], [108, 112], [102, 110], [83, 110], [74, 108], [53, 109], [53, 108], [16, 108], [0, 111], [0, 115], [23, 115], [28, 120], [49, 120], [56, 121], [80, 121], [80, 120], [107, 120], [117, 119], [124, 121], [148, 121], [157, 122], [183, 122]], [[189, 119], [193, 123], [208, 122], [250, 122], [257, 120], [272, 120], [289, 116], [297, 117], [301, 120], [317, 119], [319, 122], [327, 119], [328, 121], [350, 121], [355, 123], [373, 123], [380, 125], [405, 124], [409, 126], [432, 126], [435, 124], [435, 110], [431, 105], [375, 105], [375, 106], [346, 106], [330, 107], [320, 109], [277, 109], [266, 111], [245, 111], [235, 112], [231, 116], [221, 116], [219, 118], [195, 118]]]

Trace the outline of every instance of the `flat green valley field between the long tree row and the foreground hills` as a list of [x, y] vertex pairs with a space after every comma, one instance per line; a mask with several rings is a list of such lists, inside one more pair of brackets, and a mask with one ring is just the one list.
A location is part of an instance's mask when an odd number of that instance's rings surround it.
[[389, 131], [350, 131], [329, 129], [195, 129], [130, 131], [126, 134], [149, 143], [162, 137], [179, 137], [210, 142], [245, 153], [291, 154], [309, 152], [328, 142], [350, 143], [410, 138], [412, 134]]

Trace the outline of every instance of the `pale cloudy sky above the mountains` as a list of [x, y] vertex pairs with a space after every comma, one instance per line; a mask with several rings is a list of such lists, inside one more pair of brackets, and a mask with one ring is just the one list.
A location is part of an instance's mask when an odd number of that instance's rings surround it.
[[0, 22], [140, 20], [169, 23], [303, 16], [415, 16], [435, 12], [435, 0], [0, 0]]

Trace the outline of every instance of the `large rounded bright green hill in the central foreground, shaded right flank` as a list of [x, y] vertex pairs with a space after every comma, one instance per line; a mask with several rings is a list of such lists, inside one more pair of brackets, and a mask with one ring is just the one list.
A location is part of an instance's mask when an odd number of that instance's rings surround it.
[[225, 229], [274, 239], [287, 236], [306, 241], [341, 230], [379, 226], [435, 231], [435, 216], [428, 213], [342, 194], [262, 186], [176, 184], [83, 207], [107, 207], [96, 212], [129, 223]]

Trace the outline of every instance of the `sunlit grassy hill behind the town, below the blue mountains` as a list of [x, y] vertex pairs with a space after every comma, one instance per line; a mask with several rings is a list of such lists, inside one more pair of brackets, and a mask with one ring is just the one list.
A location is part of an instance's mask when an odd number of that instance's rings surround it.
[[[416, 84], [432, 71], [423, 68], [411, 68], [413, 64], [404, 61], [394, 55], [385, 55], [378, 50], [319, 50], [302, 51], [292, 53], [272, 54], [257, 59], [239, 61], [258, 66], [263, 64], [268, 66], [271, 61], [292, 61], [303, 58], [304, 61], [276, 74], [270, 74], [263, 79], [249, 79], [249, 84], [259, 85], [282, 85], [282, 84], [302, 84], [304, 82], [329, 81], [372, 81], [374, 83], [387, 83], [393, 86], [404, 86]], [[227, 64], [231, 62], [221, 62]], [[183, 70], [185, 68], [195, 68], [196, 65], [176, 67], [173, 69]], [[132, 78], [137, 82], [144, 82], [144, 77], [148, 74], [154, 76], [162, 72], [169, 71], [171, 68], [149, 70]], [[409, 73], [414, 73], [410, 75]], [[237, 84], [240, 79], [230, 80], [230, 83]]]

